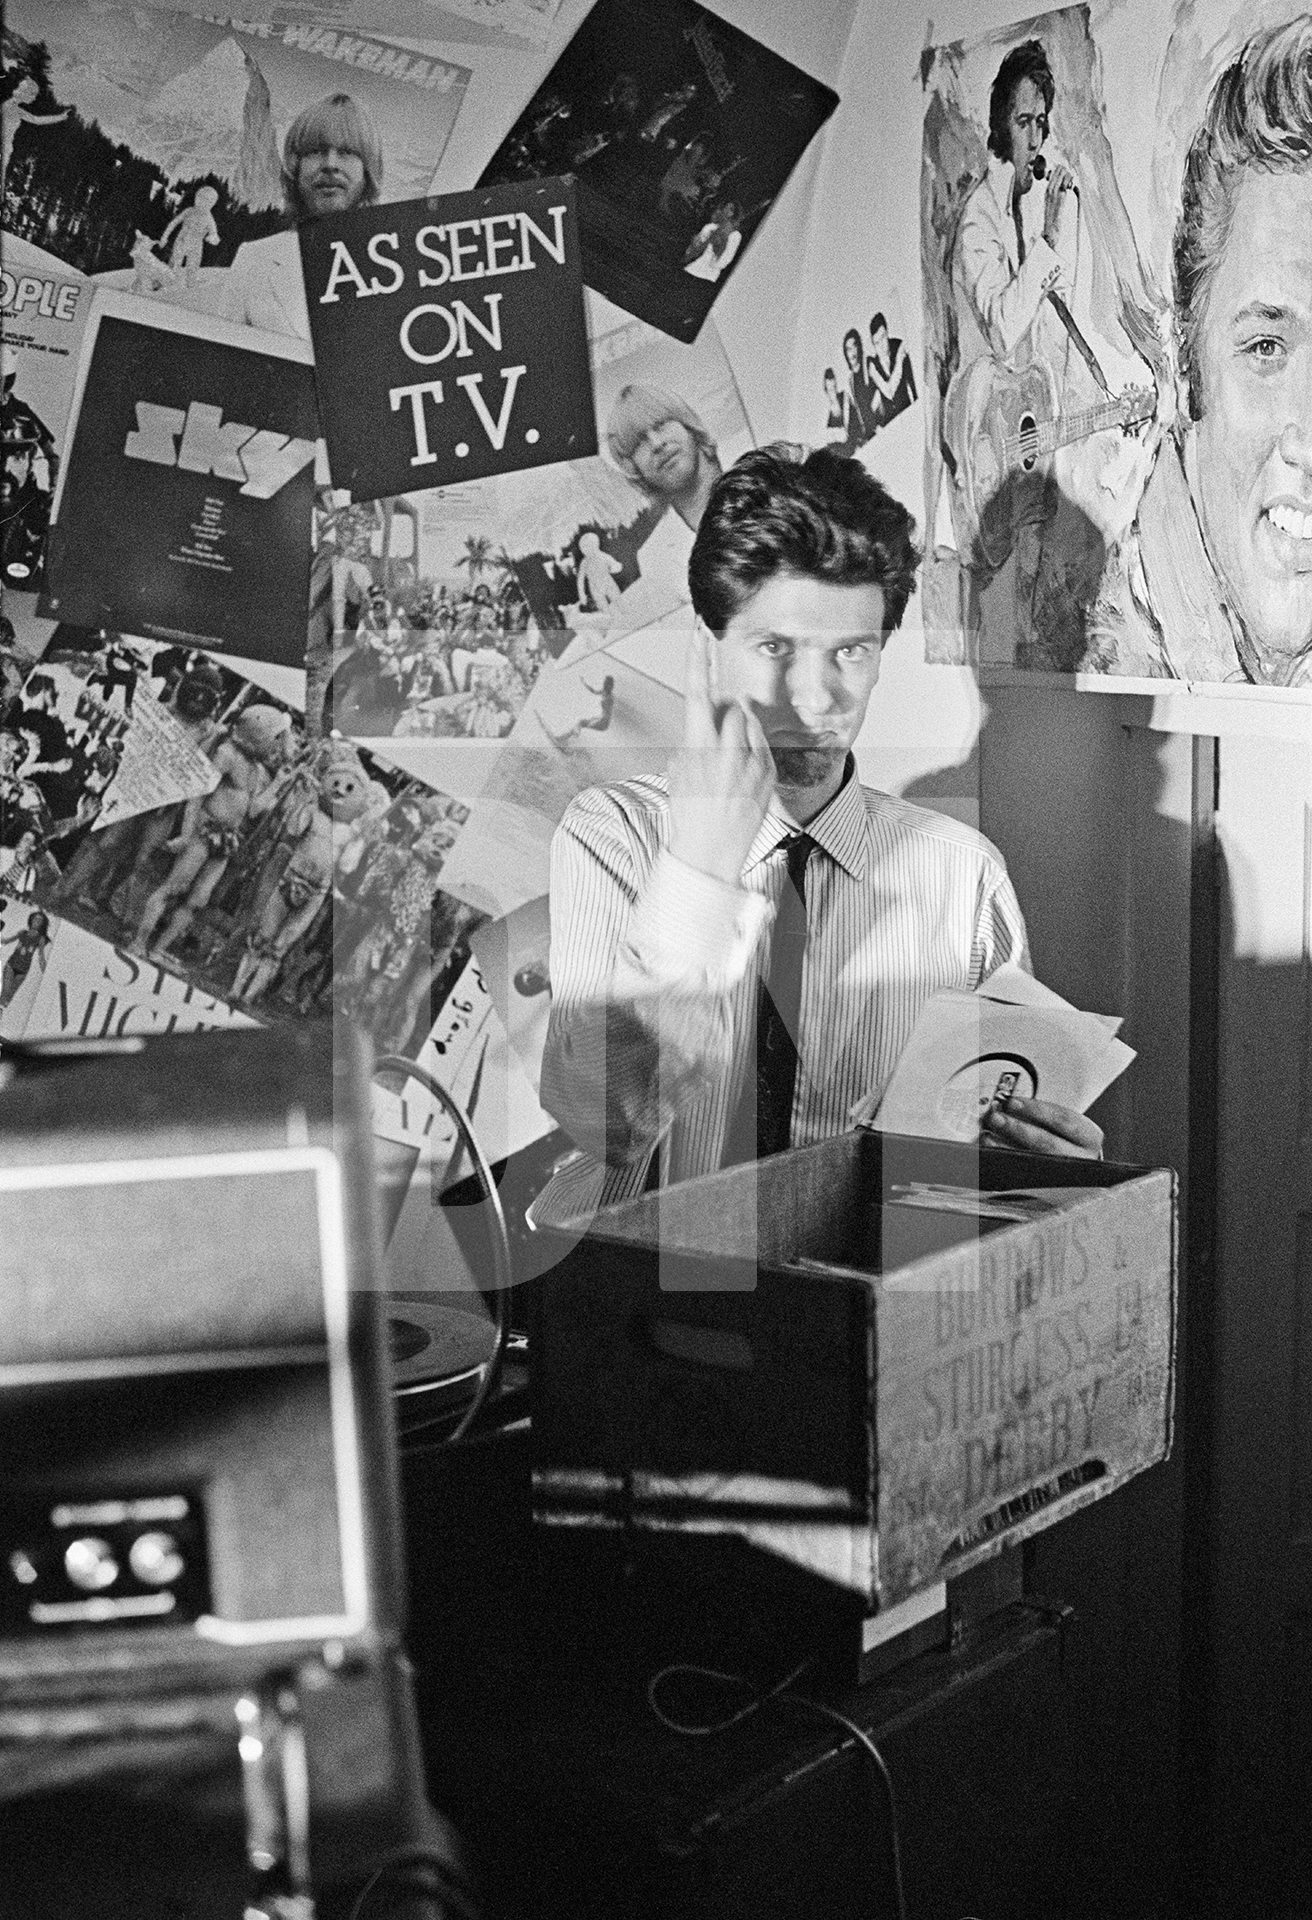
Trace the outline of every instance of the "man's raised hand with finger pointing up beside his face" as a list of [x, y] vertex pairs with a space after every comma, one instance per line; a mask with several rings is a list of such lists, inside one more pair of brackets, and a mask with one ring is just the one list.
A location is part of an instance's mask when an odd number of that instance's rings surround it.
[[715, 641], [697, 620], [688, 645], [684, 741], [670, 758], [670, 852], [738, 885], [774, 793], [774, 758], [761, 722], [711, 691]]

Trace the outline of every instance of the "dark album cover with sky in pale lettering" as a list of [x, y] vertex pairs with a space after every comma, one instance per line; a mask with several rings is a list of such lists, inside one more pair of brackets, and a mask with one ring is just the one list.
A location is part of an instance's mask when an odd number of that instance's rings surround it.
[[100, 290], [46, 611], [300, 666], [317, 432], [300, 342]]

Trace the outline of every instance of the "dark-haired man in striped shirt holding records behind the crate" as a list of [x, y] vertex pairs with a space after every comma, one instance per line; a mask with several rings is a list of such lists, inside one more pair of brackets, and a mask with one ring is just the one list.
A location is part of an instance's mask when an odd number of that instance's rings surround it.
[[[997, 849], [855, 774], [916, 564], [907, 509], [834, 447], [765, 447], [717, 482], [688, 568], [682, 747], [663, 778], [582, 793], [551, 847], [542, 1104], [580, 1154], [536, 1217], [736, 1156], [799, 828], [813, 849], [790, 1144], [843, 1131], [886, 1087], [932, 993], [1028, 966]], [[1012, 1096], [985, 1125], [1032, 1152], [1101, 1152], [1093, 1121], [1051, 1102]]]

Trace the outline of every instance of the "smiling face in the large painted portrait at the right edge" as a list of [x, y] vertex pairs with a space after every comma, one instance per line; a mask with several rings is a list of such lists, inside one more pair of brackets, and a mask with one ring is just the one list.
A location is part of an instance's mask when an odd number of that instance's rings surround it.
[[1312, 171], [1245, 171], [1199, 376], [1203, 526], [1277, 680], [1312, 649]]

